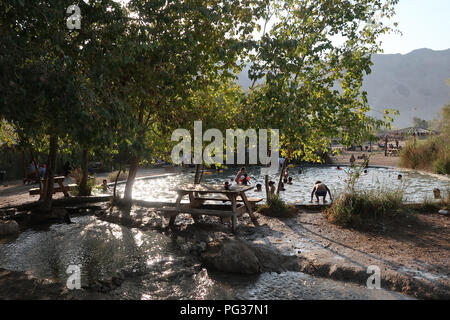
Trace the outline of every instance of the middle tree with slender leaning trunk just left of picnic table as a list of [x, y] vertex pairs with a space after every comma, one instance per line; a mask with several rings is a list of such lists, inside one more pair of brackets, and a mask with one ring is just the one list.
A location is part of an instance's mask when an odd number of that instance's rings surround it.
[[130, 19], [127, 34], [118, 47], [118, 57], [128, 62], [120, 71], [123, 75], [120, 90], [129, 114], [134, 117], [128, 134], [133, 159], [125, 201], [132, 198], [137, 168], [148, 146], [158, 145], [146, 139], [162, 140], [173, 128], [186, 127], [195, 118], [193, 115], [202, 114], [201, 106], [192, 108], [189, 100], [192, 92], [208, 86], [214, 79], [233, 77], [239, 69], [238, 58], [248, 48], [247, 40], [266, 3], [129, 2], [130, 17], [135, 18]]

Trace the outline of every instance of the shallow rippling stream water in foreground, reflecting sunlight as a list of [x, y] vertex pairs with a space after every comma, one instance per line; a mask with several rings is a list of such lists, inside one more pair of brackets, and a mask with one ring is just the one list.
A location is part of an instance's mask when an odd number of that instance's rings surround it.
[[[300, 272], [236, 276], [194, 268], [196, 260], [156, 231], [143, 232], [94, 217], [76, 217], [72, 224], [30, 229], [0, 242], [0, 268], [32, 271], [65, 283], [66, 269], [81, 265], [81, 283], [127, 274], [111, 299], [406, 299], [385, 290], [314, 278]], [[198, 264], [197, 264], [198, 266]], [[92, 298], [84, 291], [84, 298]], [[95, 297], [95, 296], [94, 296]]]

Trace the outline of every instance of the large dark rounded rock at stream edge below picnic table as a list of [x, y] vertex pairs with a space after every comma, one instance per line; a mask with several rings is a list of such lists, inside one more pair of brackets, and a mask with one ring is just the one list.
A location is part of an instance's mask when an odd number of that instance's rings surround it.
[[218, 245], [210, 245], [202, 258], [206, 265], [217, 271], [255, 274], [261, 270], [254, 252], [240, 240], [227, 240]]

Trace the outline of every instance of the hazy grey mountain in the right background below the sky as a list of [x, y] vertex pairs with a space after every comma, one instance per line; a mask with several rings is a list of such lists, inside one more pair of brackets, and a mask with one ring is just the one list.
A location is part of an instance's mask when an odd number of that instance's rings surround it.
[[[432, 120], [450, 103], [450, 49], [418, 49], [408, 54], [378, 54], [372, 57], [372, 72], [364, 79], [371, 115], [393, 108], [400, 112], [394, 127], [412, 125], [413, 117]], [[248, 88], [251, 81], [244, 69], [238, 83]]]

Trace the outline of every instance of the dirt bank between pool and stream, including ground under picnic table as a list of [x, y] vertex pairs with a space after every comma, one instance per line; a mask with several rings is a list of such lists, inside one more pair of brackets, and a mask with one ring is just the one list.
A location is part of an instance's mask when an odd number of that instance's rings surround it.
[[[103, 218], [144, 229], [167, 225], [167, 221], [141, 207], [134, 207], [129, 215], [114, 211]], [[323, 213], [311, 211], [285, 219], [258, 215], [258, 221], [259, 226], [255, 227], [244, 215], [239, 219], [237, 235], [233, 236], [217, 218], [205, 217], [194, 224], [189, 215], [180, 215], [172, 232], [181, 236], [181, 246], [186, 246], [187, 251], [195, 250], [198, 243], [209, 246], [239, 238], [271, 249], [279, 257], [296, 256], [298, 270], [307, 274], [360, 285], [366, 285], [367, 268], [375, 265], [381, 270], [383, 289], [417, 298], [450, 299], [450, 233], [446, 216], [416, 214], [380, 224], [370, 232], [340, 228], [330, 224]], [[283, 259], [278, 262], [269, 261], [268, 267], [278, 272], [292, 270]]]

